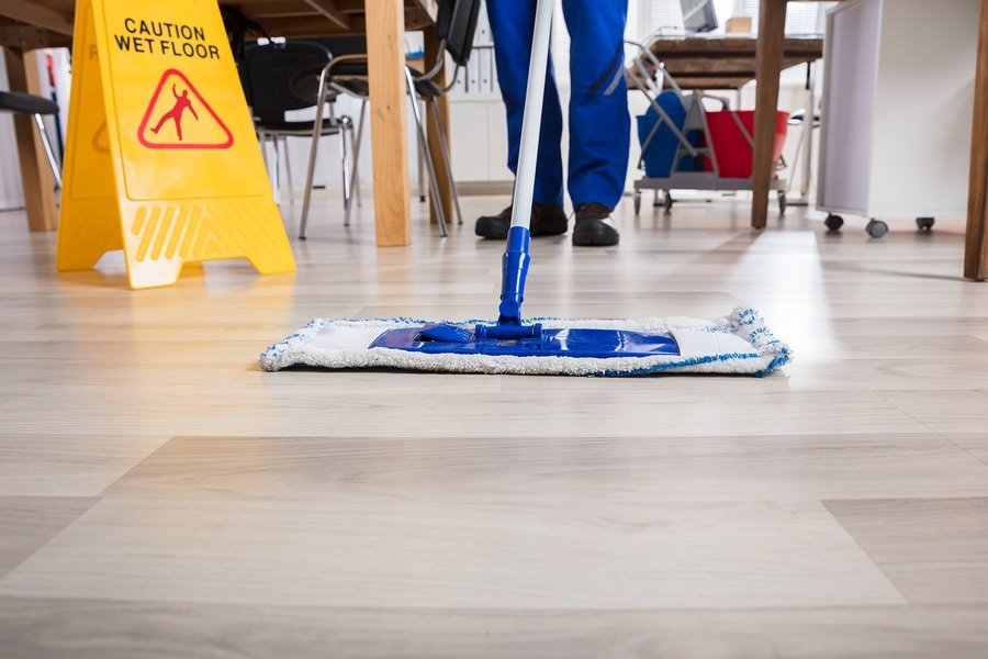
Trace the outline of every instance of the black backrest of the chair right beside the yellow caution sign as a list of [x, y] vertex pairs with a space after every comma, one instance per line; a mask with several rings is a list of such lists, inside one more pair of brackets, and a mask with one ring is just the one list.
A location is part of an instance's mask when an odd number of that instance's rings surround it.
[[289, 110], [316, 104], [316, 91], [302, 94], [299, 76], [310, 76], [329, 62], [329, 51], [319, 44], [289, 41], [250, 46], [245, 52], [243, 82], [254, 116], [266, 122], [283, 122]]

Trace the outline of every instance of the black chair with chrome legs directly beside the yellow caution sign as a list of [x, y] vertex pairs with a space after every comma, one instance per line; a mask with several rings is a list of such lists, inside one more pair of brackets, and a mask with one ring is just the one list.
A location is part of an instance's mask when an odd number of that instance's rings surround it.
[[[317, 43], [289, 41], [248, 47], [242, 67], [242, 81], [248, 103], [254, 114], [255, 129], [261, 145], [272, 141], [273, 163], [270, 167], [276, 197], [280, 188], [278, 181], [278, 141], [287, 137], [308, 137], [315, 135], [310, 147], [310, 160], [314, 164], [318, 150], [318, 138], [326, 135], [340, 136], [340, 159], [343, 167], [344, 209], [349, 213], [351, 204], [350, 150], [355, 147], [353, 123], [349, 116], [336, 116], [334, 100], [336, 93], [327, 93], [324, 83], [311, 85], [310, 71], [322, 68], [330, 62], [329, 51]], [[321, 102], [322, 101], [322, 102]], [[287, 121], [285, 112], [312, 108], [318, 103], [315, 121]], [[329, 116], [324, 118], [323, 107], [329, 103]], [[287, 154], [285, 154], [287, 155]], [[291, 170], [289, 170], [291, 177]], [[305, 197], [312, 190], [313, 168], [305, 181]]]

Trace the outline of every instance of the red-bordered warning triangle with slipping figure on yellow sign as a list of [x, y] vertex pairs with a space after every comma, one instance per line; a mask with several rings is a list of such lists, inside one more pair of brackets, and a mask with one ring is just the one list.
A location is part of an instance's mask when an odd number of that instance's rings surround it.
[[137, 138], [148, 148], [229, 148], [233, 133], [178, 69], [161, 75]]

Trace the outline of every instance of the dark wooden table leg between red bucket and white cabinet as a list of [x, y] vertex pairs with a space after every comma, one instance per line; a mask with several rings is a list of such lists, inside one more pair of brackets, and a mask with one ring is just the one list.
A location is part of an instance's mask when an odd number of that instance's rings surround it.
[[768, 186], [774, 163], [775, 113], [778, 110], [778, 75], [782, 69], [787, 0], [762, 0], [755, 55], [754, 161], [752, 166], [751, 225], [764, 228], [768, 215]]

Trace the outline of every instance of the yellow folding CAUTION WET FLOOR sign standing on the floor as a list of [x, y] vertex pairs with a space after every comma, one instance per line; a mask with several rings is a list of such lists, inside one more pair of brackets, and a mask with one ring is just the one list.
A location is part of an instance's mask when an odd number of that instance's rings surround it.
[[59, 270], [123, 249], [133, 288], [182, 265], [295, 268], [215, 1], [80, 0]]

